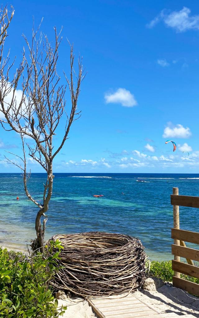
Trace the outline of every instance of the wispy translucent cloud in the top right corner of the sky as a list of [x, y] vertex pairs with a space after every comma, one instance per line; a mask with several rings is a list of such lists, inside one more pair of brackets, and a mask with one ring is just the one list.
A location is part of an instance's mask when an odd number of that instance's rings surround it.
[[199, 15], [191, 16], [190, 13], [191, 10], [187, 7], [169, 14], [166, 10], [162, 10], [157, 17], [147, 24], [147, 27], [153, 28], [157, 23], [163, 21], [167, 27], [173, 28], [177, 32], [199, 30]]

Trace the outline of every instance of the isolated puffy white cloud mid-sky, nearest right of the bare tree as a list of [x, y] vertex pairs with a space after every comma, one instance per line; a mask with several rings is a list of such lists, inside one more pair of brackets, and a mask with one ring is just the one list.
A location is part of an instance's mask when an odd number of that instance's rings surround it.
[[125, 88], [118, 88], [117, 91], [112, 94], [106, 93], [104, 98], [107, 104], [118, 103], [122, 104], [122, 106], [125, 107], [133, 107], [138, 104], [135, 100], [134, 95], [131, 94], [131, 92], [126, 90]]

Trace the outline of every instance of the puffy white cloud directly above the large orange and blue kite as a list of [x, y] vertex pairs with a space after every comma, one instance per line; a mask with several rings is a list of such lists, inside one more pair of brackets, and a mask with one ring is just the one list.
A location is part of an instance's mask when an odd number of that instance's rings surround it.
[[164, 129], [164, 134], [162, 137], [170, 138], [188, 138], [191, 136], [190, 128], [184, 128], [182, 125], [177, 124], [175, 127], [171, 127], [171, 123], [168, 123], [168, 126]]

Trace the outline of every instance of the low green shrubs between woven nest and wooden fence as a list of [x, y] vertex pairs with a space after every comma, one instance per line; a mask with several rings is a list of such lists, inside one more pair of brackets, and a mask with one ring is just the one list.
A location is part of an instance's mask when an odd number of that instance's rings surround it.
[[[172, 270], [171, 261], [152, 261], [150, 266], [150, 272], [154, 277], [161, 278], [163, 281], [172, 281], [172, 276], [174, 276], [174, 271]], [[181, 278], [192, 281], [199, 284], [199, 279], [181, 274]]]

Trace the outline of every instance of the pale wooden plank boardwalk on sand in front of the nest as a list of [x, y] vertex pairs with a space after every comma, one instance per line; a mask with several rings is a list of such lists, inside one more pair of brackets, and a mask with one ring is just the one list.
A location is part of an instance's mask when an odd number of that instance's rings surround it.
[[[89, 300], [95, 313], [100, 318], [174, 318], [177, 313], [160, 314], [133, 294], [126, 297], [106, 297]], [[193, 315], [182, 315], [183, 318], [194, 318]]]

